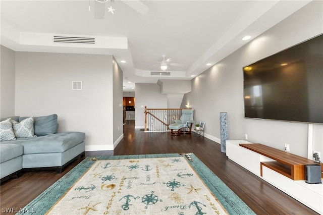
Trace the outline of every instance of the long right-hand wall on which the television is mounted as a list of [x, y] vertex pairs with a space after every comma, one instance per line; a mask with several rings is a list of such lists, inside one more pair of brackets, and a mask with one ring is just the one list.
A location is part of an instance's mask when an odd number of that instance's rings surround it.
[[[228, 112], [229, 139], [244, 139], [307, 157], [308, 125], [244, 119], [242, 68], [262, 58], [323, 33], [323, 2], [313, 1], [232, 55], [192, 80], [181, 108], [191, 104], [196, 122], [205, 121], [205, 133], [220, 138], [220, 112]], [[323, 125], [314, 125], [313, 149], [323, 154]]]

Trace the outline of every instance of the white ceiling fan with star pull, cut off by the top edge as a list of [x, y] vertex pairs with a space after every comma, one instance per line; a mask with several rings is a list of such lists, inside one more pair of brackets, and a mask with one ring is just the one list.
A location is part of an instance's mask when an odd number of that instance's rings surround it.
[[[128, 5], [130, 8], [134, 9], [138, 13], [145, 15], [148, 11], [149, 8], [143, 4], [140, 0], [120, 0], [121, 2], [125, 3]], [[106, 5], [109, 5], [110, 2], [110, 7], [106, 7]], [[105, 10], [107, 9], [109, 12], [114, 14], [115, 9], [112, 8], [112, 3], [114, 3], [115, 0], [94, 0], [94, 17], [95, 19], [104, 19], [104, 14]], [[107, 4], [106, 4], [107, 3]], [[90, 10], [90, 6], [89, 6]]]

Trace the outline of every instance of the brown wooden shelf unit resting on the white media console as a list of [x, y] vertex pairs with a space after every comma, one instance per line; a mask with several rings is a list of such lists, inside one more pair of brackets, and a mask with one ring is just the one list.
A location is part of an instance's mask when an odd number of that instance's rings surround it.
[[314, 162], [310, 159], [259, 143], [244, 143], [239, 145], [257, 152], [263, 156], [276, 160], [275, 162], [260, 162], [261, 176], [262, 166], [265, 166], [292, 180], [305, 180], [305, 165], [314, 164]]

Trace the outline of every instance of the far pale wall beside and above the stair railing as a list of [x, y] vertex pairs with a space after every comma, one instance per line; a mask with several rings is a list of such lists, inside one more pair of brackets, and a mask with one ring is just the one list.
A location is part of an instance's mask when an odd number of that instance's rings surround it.
[[158, 84], [136, 84], [135, 128], [145, 127], [144, 107], [148, 109], [167, 109], [167, 94], [160, 94]]

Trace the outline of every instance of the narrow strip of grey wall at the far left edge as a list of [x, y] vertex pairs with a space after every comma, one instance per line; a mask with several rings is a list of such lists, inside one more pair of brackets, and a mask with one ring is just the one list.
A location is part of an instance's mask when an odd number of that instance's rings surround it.
[[15, 115], [15, 51], [0, 48], [0, 118], [6, 118]]

